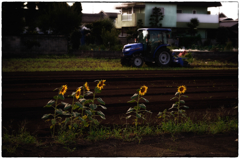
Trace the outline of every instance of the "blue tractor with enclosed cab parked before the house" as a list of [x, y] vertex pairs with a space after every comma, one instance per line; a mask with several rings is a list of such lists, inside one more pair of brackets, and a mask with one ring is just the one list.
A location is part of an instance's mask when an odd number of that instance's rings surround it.
[[171, 29], [140, 28], [135, 43], [124, 45], [121, 58], [123, 66], [141, 67], [171, 66], [175, 63], [171, 51], [167, 48]]

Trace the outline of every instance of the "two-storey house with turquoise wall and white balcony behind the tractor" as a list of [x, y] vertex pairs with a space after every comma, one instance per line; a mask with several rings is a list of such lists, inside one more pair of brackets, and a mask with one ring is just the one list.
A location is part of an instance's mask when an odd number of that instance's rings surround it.
[[208, 32], [219, 27], [218, 15], [211, 15], [207, 8], [219, 6], [222, 6], [220, 2], [125, 3], [116, 7], [121, 13], [117, 15], [115, 26], [121, 30], [120, 37], [126, 37], [127, 30], [136, 27], [139, 19], [143, 21], [144, 27], [150, 27], [150, 15], [153, 8], [158, 7], [164, 15], [162, 28], [171, 28], [173, 33], [179, 30], [184, 32], [188, 28], [187, 23], [197, 18], [200, 22], [198, 34], [206, 39]]

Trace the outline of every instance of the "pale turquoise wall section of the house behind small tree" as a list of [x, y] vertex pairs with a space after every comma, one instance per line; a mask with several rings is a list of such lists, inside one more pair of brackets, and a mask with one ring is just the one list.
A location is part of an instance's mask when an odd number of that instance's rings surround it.
[[159, 3], [146, 3], [145, 4], [145, 25], [149, 27], [149, 19], [154, 7], [164, 8], [164, 17], [161, 21], [162, 27], [176, 27], [177, 21], [177, 6], [175, 4], [159, 4]]

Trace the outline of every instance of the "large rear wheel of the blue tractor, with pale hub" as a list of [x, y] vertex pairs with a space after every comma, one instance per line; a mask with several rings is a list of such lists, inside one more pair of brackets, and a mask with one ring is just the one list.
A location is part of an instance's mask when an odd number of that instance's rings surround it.
[[169, 49], [158, 50], [155, 62], [157, 66], [170, 66], [172, 64], [172, 55]]

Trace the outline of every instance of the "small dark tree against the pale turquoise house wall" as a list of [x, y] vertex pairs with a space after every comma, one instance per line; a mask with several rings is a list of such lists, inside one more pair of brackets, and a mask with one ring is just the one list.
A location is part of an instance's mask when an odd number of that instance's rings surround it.
[[163, 14], [161, 12], [161, 8], [153, 8], [152, 14], [150, 15], [150, 25], [151, 27], [162, 27], [162, 24], [160, 23], [160, 21], [163, 20]]

